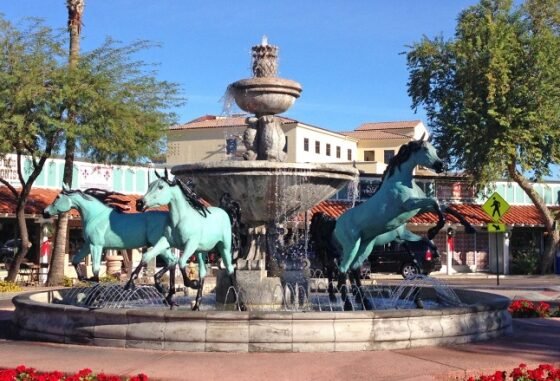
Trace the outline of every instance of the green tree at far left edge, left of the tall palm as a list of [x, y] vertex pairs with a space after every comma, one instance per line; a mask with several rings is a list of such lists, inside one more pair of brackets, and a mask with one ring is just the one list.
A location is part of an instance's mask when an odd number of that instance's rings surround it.
[[63, 114], [66, 70], [61, 65], [61, 38], [37, 21], [21, 30], [0, 16], [0, 154], [16, 154], [19, 187], [0, 183], [16, 202], [21, 250], [8, 271], [15, 281], [31, 243], [25, 204], [47, 158], [66, 128]]

